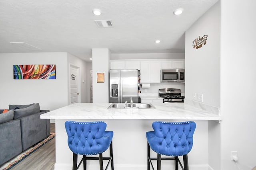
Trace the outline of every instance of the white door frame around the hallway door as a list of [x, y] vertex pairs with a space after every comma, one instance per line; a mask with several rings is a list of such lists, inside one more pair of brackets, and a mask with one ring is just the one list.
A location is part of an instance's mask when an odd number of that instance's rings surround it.
[[78, 84], [78, 103], [81, 103], [81, 74], [80, 74], [80, 67], [76, 66], [75, 64], [69, 63], [69, 68], [68, 68], [68, 105], [70, 105], [70, 91], [71, 91], [71, 86], [70, 86], [70, 68], [76, 68], [78, 69], [78, 76], [77, 76], [77, 84]]

